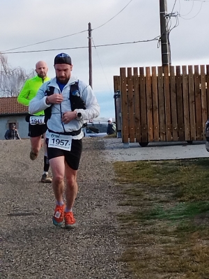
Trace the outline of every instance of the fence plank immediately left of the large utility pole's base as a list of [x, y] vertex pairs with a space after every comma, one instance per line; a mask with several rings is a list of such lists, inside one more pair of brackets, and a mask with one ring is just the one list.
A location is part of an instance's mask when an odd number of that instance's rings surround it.
[[164, 88], [162, 67], [157, 67], [158, 70], [158, 104], [159, 104], [159, 124], [160, 124], [160, 140], [165, 142], [165, 112], [164, 112]]

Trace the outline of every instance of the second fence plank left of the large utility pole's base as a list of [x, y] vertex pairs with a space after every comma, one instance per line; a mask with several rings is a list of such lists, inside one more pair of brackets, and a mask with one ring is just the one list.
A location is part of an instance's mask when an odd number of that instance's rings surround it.
[[157, 70], [152, 67], [152, 89], [153, 89], [153, 129], [154, 141], [159, 142], [159, 114], [158, 114], [158, 92], [157, 92]]

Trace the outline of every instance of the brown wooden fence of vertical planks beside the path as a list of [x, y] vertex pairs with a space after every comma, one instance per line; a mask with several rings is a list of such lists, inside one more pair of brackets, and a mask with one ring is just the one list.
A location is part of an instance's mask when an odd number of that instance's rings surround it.
[[205, 140], [209, 65], [121, 68], [123, 143]]

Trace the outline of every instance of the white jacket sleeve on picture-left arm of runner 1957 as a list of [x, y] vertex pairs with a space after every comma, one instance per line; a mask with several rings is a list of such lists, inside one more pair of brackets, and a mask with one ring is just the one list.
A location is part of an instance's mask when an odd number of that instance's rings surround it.
[[38, 92], [36, 94], [36, 97], [31, 100], [29, 103], [29, 114], [36, 114], [37, 112], [41, 112], [42, 110], [47, 109], [47, 107], [50, 107], [50, 105], [46, 104], [46, 96], [45, 91], [47, 89], [47, 82], [42, 84], [40, 86], [40, 89], [38, 89]]

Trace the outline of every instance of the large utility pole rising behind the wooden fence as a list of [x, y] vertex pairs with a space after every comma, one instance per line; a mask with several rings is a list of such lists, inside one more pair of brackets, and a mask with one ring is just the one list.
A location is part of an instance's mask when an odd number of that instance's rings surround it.
[[160, 34], [162, 66], [169, 66], [171, 65], [171, 52], [169, 46], [167, 0], [160, 0]]

